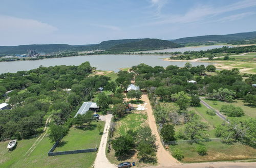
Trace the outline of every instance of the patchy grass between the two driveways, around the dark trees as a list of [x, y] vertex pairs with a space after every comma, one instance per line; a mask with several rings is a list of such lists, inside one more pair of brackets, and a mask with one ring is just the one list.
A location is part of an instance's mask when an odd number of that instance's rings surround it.
[[[114, 131], [114, 138], [118, 137], [119, 135], [124, 135], [126, 131], [129, 129], [137, 130], [143, 125], [147, 125], [146, 122], [147, 116], [144, 114], [144, 111], [134, 111], [134, 113], [126, 115], [125, 117], [121, 118], [120, 120], [116, 121], [116, 130]], [[106, 149], [107, 150], [107, 149]], [[119, 164], [124, 161], [135, 162], [136, 166], [144, 167], [152, 164], [147, 164], [143, 162], [139, 162], [137, 158], [137, 151], [133, 150], [129, 156], [125, 157], [125, 159], [118, 159], [115, 157], [115, 150], [111, 149], [108, 153], [106, 151], [106, 157], [109, 159], [111, 163]]]

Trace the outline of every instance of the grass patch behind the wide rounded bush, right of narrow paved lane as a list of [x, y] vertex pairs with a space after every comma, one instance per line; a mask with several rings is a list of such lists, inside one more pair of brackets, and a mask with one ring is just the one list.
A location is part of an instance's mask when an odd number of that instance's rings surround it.
[[215, 109], [220, 110], [222, 105], [226, 104], [233, 104], [234, 106], [239, 106], [244, 110], [245, 116], [242, 118], [256, 118], [256, 107], [251, 107], [246, 105], [243, 100], [234, 100], [232, 103], [218, 101], [218, 100], [207, 100], [203, 98], [203, 100], [208, 103], [210, 106], [214, 107]]

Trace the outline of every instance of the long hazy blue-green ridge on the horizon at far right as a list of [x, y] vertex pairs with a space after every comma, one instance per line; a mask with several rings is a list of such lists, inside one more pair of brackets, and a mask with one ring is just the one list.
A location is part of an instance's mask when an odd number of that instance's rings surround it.
[[208, 36], [196, 36], [185, 37], [176, 40], [171, 40], [175, 43], [209, 43], [209, 42], [231, 42], [250, 40], [256, 38], [256, 32], [236, 33], [228, 35], [208, 35]]

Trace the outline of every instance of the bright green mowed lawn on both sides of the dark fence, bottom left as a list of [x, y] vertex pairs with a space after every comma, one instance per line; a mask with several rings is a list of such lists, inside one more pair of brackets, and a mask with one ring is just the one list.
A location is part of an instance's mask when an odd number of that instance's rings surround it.
[[[102, 122], [99, 123], [103, 124]], [[96, 144], [99, 146], [101, 135], [99, 135], [99, 131], [97, 129], [87, 130], [84, 132], [79, 132], [72, 129], [73, 128], [71, 128], [69, 132], [70, 134], [67, 135], [68, 142], [65, 144], [67, 146], [61, 147], [62, 149], [68, 149], [68, 147], [73, 146], [78, 142], [72, 141], [73, 138], [70, 137], [70, 135], [79, 137], [83, 142], [79, 143], [82, 147], [86, 147], [86, 144], [91, 144], [93, 147], [95, 147]], [[91, 138], [87, 138], [86, 136], [92, 134], [92, 132], [95, 133], [95, 137], [91, 136]], [[83, 133], [84, 136], [80, 136], [80, 133]], [[92, 167], [92, 164], [96, 158], [97, 152], [48, 156], [47, 153], [53, 146], [53, 143], [49, 141], [47, 136], [45, 136], [41, 142], [37, 144], [35, 150], [30, 155], [25, 154], [36, 139], [37, 138], [32, 138], [18, 141], [16, 149], [10, 153], [6, 148], [9, 142], [1, 142], [0, 167]], [[84, 141], [85, 139], [86, 141]]]

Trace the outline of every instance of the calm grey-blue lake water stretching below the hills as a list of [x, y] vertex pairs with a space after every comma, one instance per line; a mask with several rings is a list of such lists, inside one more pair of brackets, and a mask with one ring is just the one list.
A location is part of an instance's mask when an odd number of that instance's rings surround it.
[[[173, 48], [173, 49], [164, 49], [156, 50], [161, 52], [173, 52], [173, 51], [188, 51], [188, 50], [207, 50], [212, 48], [219, 48], [222, 45], [214, 46], [203, 46], [203, 47], [183, 47], [183, 48]], [[155, 52], [155, 51], [151, 51]], [[92, 66], [97, 67], [100, 70], [112, 70], [119, 71], [119, 68], [132, 67], [133, 65], [138, 65], [144, 63], [150, 66], [163, 66], [168, 65], [177, 65], [183, 67], [186, 62], [169, 62], [163, 61], [161, 58], [167, 58], [168, 55], [84, 55], [76, 57], [65, 57], [65, 58], [54, 58], [54, 59], [45, 59], [45, 60], [36, 60], [36, 61], [14, 61], [14, 62], [0, 62], [0, 73], [12, 72], [23, 70], [31, 70], [38, 68], [40, 65], [49, 67], [55, 65], [80, 65], [83, 62], [89, 61]], [[191, 62], [193, 66], [197, 65], [209, 65], [210, 63], [200, 63], [200, 62]]]

